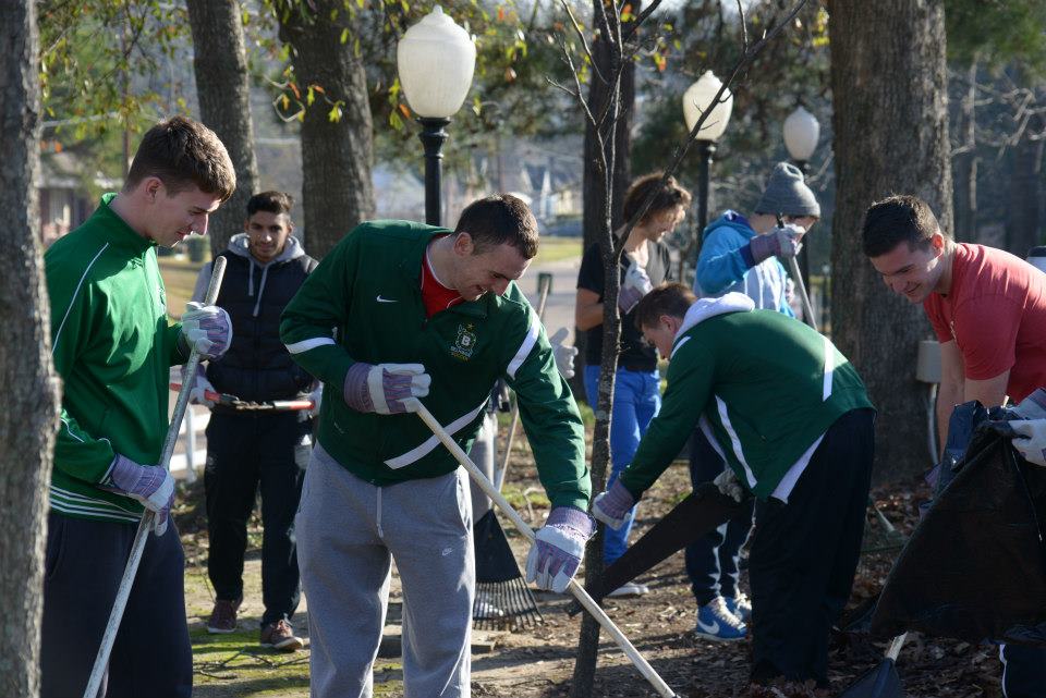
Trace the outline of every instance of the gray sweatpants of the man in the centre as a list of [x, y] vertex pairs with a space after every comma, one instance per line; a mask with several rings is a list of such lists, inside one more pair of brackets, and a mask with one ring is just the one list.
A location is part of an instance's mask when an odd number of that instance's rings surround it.
[[405, 698], [469, 698], [475, 562], [467, 475], [375, 487], [313, 450], [295, 519], [314, 698], [370, 698], [391, 560]]

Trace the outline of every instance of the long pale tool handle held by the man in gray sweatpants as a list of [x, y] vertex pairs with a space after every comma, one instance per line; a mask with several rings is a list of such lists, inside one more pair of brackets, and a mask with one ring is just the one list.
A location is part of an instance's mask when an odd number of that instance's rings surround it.
[[[436, 438], [447, 446], [447, 450], [450, 451], [453, 456], [458, 460], [458, 463], [469, 472], [470, 477], [473, 481], [479, 486], [479, 489], [486, 493], [494, 503], [501, 507], [501, 511], [509, 517], [509, 519], [515, 525], [515, 527], [523, 534], [527, 540], [534, 540], [534, 531], [530, 526], [526, 525], [526, 522], [519, 515], [519, 513], [512, 509], [512, 505], [509, 504], [506, 499], [501, 495], [501, 492], [495, 489], [494, 485], [484, 477], [483, 473], [476, 466], [475, 463], [469, 457], [469, 455], [462, 451], [461, 446], [458, 445], [458, 442], [454, 441], [447, 430], [443, 429], [442, 425], [436, 420], [436, 417], [418, 401], [416, 397], [410, 399], [413, 401], [413, 409], [417, 413], [417, 416], [428, 425], [428, 428], [433, 430], [433, 433], [436, 434]], [[621, 651], [624, 652], [625, 657], [629, 658], [640, 673], [643, 674], [643, 677], [646, 678], [654, 686], [654, 689], [662, 698], [678, 698], [676, 691], [673, 691], [668, 684], [665, 683], [654, 668], [640, 654], [638, 650], [629, 641], [629, 638], [624, 636], [624, 633], [618, 629], [618, 626], [613, 624], [613, 621], [606, 614], [606, 612], [599, 608], [588, 592], [585, 591], [585, 588], [577, 584], [576, 580], [571, 579], [570, 585], [567, 587], [570, 592], [574, 596], [577, 601], [585, 607], [585, 610], [592, 613], [593, 617], [598, 621], [607, 633], [613, 638], [613, 641], [617, 642], [618, 647], [621, 648]]]

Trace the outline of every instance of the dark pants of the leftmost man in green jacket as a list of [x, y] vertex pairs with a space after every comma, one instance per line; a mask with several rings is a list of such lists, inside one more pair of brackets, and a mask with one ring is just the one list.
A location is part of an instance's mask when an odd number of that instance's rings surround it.
[[[48, 514], [40, 648], [42, 698], [84, 695], [137, 524]], [[107, 698], [193, 693], [185, 623], [185, 556], [174, 523], [149, 534], [109, 659]], [[108, 682], [108, 689], [106, 685]]]

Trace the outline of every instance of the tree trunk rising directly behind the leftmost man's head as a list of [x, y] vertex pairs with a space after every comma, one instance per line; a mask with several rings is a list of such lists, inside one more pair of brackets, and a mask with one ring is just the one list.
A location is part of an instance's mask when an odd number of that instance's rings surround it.
[[243, 47], [240, 3], [235, 0], [186, 0], [193, 29], [193, 69], [199, 113], [229, 151], [236, 169], [236, 191], [221, 205], [207, 230], [211, 255], [224, 252], [243, 231], [247, 199], [255, 194], [258, 161], [251, 125], [251, 83]]

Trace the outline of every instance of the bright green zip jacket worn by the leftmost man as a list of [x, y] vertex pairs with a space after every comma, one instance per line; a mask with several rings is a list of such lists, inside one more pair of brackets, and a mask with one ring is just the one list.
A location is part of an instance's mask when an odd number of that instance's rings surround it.
[[117, 453], [160, 460], [168, 427], [169, 368], [186, 357], [169, 326], [156, 244], [109, 209], [106, 194], [83, 225], [44, 255], [51, 303], [51, 356], [64, 381], [54, 443], [51, 510], [78, 518], [136, 522], [142, 505], [96, 486]]

